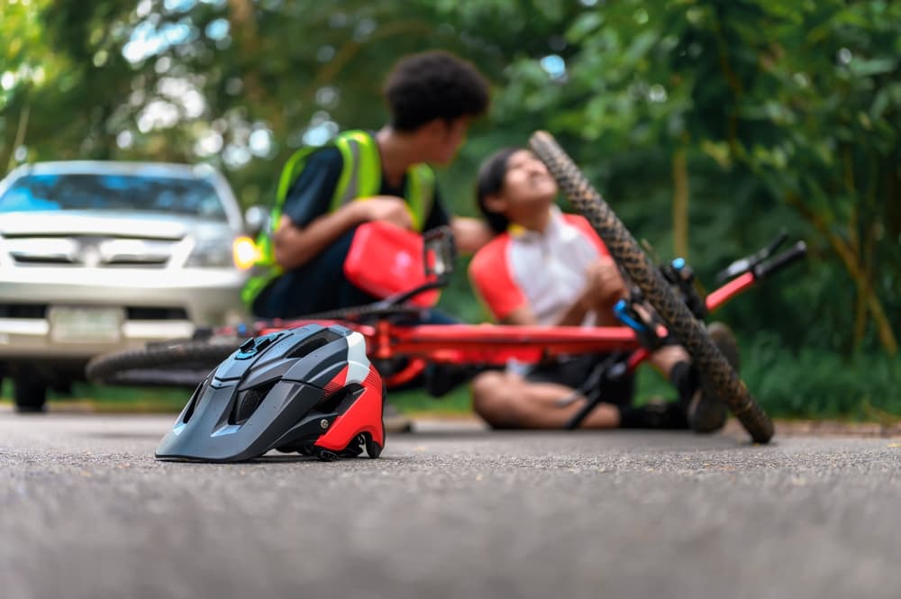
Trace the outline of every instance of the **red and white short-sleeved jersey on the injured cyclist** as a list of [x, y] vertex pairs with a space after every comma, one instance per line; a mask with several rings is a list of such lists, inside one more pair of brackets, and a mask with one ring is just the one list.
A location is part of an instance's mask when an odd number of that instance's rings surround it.
[[[555, 324], [585, 288], [588, 265], [608, 254], [583, 216], [552, 206], [545, 231], [512, 225], [478, 250], [469, 277], [496, 320], [529, 306], [540, 324]], [[583, 324], [593, 321], [589, 313]]]

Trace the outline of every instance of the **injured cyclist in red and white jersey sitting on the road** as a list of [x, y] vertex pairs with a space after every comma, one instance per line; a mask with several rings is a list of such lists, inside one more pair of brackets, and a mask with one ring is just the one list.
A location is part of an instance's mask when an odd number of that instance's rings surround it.
[[[614, 326], [613, 306], [628, 295], [623, 277], [587, 220], [560, 212], [557, 191], [548, 169], [529, 150], [508, 148], [488, 158], [478, 175], [478, 205], [498, 235], [473, 257], [469, 277], [498, 322]], [[731, 331], [718, 323], [708, 331], [737, 366]], [[473, 380], [474, 409], [498, 428], [563, 428], [587, 402], [565, 399], [604, 358], [578, 356], [482, 373]], [[651, 363], [669, 377], [678, 401], [633, 406], [627, 381], [620, 388], [602, 388], [604, 403], [581, 426], [722, 428], [725, 404], [702, 393], [685, 349], [665, 345], [651, 354]]]

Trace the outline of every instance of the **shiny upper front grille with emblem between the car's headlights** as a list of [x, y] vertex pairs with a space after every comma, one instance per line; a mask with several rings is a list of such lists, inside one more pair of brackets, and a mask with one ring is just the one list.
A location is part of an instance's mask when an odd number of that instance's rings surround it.
[[140, 238], [6, 237], [17, 266], [164, 268], [178, 241]]

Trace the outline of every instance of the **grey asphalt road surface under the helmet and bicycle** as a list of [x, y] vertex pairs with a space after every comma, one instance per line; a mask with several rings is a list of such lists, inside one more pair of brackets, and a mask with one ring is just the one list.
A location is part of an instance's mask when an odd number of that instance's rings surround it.
[[0, 597], [901, 597], [901, 440], [423, 422], [155, 462], [173, 418], [0, 411]]

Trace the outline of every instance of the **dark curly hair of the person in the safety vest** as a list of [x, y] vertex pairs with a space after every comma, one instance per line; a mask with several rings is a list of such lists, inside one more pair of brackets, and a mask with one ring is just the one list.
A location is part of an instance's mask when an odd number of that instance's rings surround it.
[[448, 123], [478, 116], [488, 107], [488, 83], [469, 62], [450, 52], [432, 50], [400, 59], [382, 93], [391, 126], [411, 132], [435, 119]]

